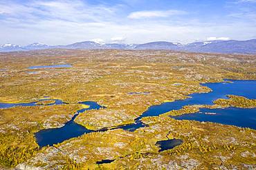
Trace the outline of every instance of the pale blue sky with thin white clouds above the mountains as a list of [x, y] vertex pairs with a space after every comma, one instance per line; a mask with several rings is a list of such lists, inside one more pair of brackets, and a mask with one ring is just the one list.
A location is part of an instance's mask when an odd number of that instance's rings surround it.
[[0, 44], [256, 39], [256, 0], [0, 0]]

